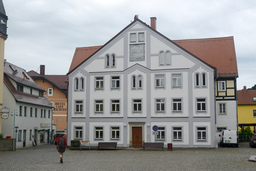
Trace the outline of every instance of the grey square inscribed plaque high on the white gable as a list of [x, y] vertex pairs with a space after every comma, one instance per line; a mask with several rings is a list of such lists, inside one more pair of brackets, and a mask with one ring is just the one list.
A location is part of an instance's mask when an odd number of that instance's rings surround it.
[[130, 61], [145, 61], [145, 44], [130, 44]]

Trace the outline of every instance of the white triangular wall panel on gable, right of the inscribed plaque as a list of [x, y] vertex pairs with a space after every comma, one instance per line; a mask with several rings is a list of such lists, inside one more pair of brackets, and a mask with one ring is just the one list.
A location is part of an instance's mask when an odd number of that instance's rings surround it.
[[158, 40], [157, 38], [155, 38], [154, 36], [150, 36], [151, 38], [151, 54], [157, 54], [159, 53], [160, 50], [170, 50], [172, 53], [177, 53], [177, 51], [175, 51], [174, 49], [172, 49], [170, 46], [166, 45], [165, 43], [163, 43], [162, 41]]

